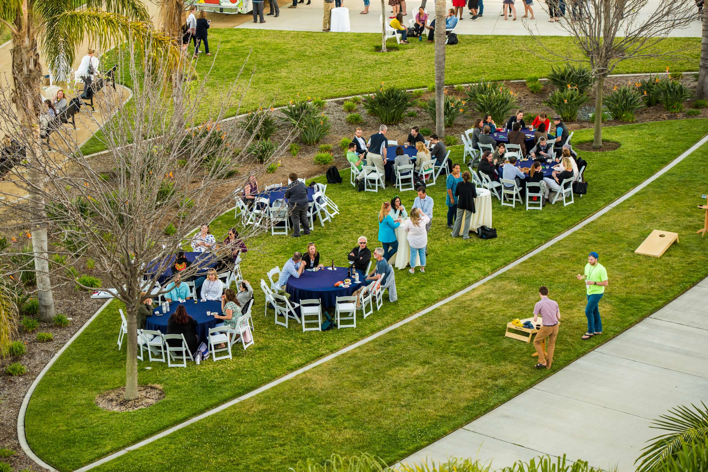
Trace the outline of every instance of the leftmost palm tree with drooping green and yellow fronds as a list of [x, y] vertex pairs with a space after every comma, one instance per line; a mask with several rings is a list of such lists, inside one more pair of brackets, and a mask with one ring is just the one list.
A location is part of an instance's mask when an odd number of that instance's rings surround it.
[[[110, 11], [103, 11], [101, 7]], [[65, 64], [73, 64], [76, 50], [86, 38], [107, 49], [130, 37], [143, 50], [149, 49], [159, 57], [166, 57], [169, 63], [178, 58], [171, 40], [153, 30], [147, 8], [141, 0], [2, 0], [0, 24], [11, 33], [12, 101], [23, 132], [28, 135], [39, 133], [40, 51], [52, 71], [61, 70]], [[44, 153], [41, 148], [35, 148], [27, 155], [43, 158]], [[33, 172], [32, 167], [28, 166], [28, 172]], [[35, 182], [38, 186], [42, 185], [40, 179]], [[50, 321], [55, 308], [47, 262], [45, 202], [40, 198], [40, 193], [30, 191], [29, 194], [35, 207], [30, 224], [33, 228], [40, 317]]]

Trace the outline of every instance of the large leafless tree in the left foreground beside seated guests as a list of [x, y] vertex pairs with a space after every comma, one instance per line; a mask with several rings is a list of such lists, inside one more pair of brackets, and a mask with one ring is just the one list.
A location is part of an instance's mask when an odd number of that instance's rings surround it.
[[[133, 52], [129, 48], [125, 54], [136, 57]], [[28, 156], [9, 175], [18, 194], [32, 191], [46, 203], [42, 224], [61, 242], [50, 254], [69, 255], [69, 264], [78, 262], [76, 253], [91, 257], [103, 286], [115, 288], [115, 298], [125, 303], [125, 399], [138, 394], [137, 308], [147, 299], [141, 292], [147, 289], [149, 293], [161, 274], [171, 273], [167, 270], [171, 256], [189, 242], [194, 228], [233, 207], [234, 187], [242, 187], [249, 175], [262, 172], [270, 163], [258, 163], [246, 151], [253, 135], [245, 126], [221, 121], [229, 110], [238, 110], [247, 86], [236, 83], [249, 83], [249, 78], [239, 73], [233, 85], [224, 86], [217, 97], [212, 90], [207, 93], [207, 73], [198, 83], [179, 83], [181, 100], [169, 100], [175, 84], [164, 81], [165, 69], [152, 61], [131, 64], [132, 83], [141, 86], [133, 90], [130, 106], [115, 105], [108, 88], [101, 98], [101, 109], [113, 114], [100, 126], [106, 153], [98, 159], [86, 157], [59, 124], [51, 135], [55, 148], [47, 159], [38, 159], [32, 155], [41, 148], [36, 134], [19, 128], [14, 137]], [[213, 105], [207, 110], [205, 104]], [[205, 112], [210, 117], [206, 123], [200, 119]], [[8, 102], [0, 102], [0, 113], [0, 122], [16, 129], [19, 119]], [[280, 145], [272, 159], [286, 144]], [[251, 170], [246, 175], [239, 168]], [[110, 170], [114, 170], [113, 177], [105, 174]], [[10, 197], [0, 201], [0, 206], [11, 220], [23, 221], [35, 214], [33, 201], [0, 195]], [[166, 231], [168, 226], [176, 232]], [[241, 237], [261, 230], [249, 227]], [[215, 235], [219, 242], [224, 236]], [[210, 250], [217, 258], [231, 254], [223, 244]], [[182, 274], [190, 276], [198, 269], [193, 264]], [[96, 289], [72, 279], [81, 288]]]

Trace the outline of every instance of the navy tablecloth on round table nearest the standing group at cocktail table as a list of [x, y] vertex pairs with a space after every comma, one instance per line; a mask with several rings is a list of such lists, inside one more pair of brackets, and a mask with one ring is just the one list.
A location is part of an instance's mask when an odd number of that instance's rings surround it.
[[[303, 271], [299, 278], [287, 279], [285, 291], [290, 294], [290, 300], [299, 303], [300, 300], [319, 299], [323, 307], [333, 307], [337, 297], [350, 297], [356, 290], [364, 285], [365, 276], [359, 272], [359, 283], [354, 282], [349, 287], [335, 287], [338, 281], [347, 278], [346, 267], [335, 267], [331, 271], [325, 267], [316, 272]], [[299, 311], [299, 310], [298, 310]]]

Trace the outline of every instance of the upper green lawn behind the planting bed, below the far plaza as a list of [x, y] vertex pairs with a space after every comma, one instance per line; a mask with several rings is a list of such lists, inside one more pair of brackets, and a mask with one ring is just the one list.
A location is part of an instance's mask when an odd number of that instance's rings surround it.
[[[205, 100], [204, 116], [212, 112], [211, 107], [219, 100], [222, 90], [234, 81], [241, 64], [250, 56], [244, 71], [244, 80], [251, 78], [255, 69], [251, 88], [244, 100], [241, 113], [258, 106], [283, 105], [299, 93], [300, 97], [336, 98], [347, 95], [371, 93], [381, 82], [406, 88], [426, 87], [434, 81], [433, 45], [427, 42], [401, 45], [401, 50], [388, 54], [373, 51], [380, 44], [381, 36], [376, 33], [309, 33], [304, 31], [245, 30], [242, 28], [213, 28], [209, 30], [209, 42], [218, 54], [201, 57], [197, 71], [206, 74], [212, 63], [208, 78], [211, 100]], [[509, 52], [500, 55], [493, 47], [483, 44], [513, 45]], [[514, 36], [471, 35], [454, 47], [447, 47], [445, 57], [445, 83], [459, 84], [487, 80], [525, 79], [528, 76], [545, 76], [552, 63], [522, 52], [523, 47], [534, 47], [528, 37], [521, 40]], [[295, 47], [297, 45], [297, 47]], [[544, 37], [544, 46], [558, 51], [573, 49], [568, 37]], [[539, 47], [535, 47], [541, 52]], [[700, 38], [671, 37], [663, 40], [658, 52], [679, 49], [683, 59], [661, 58], [623, 61], [614, 73], [663, 72], [666, 66], [672, 71], [695, 71], [700, 58]], [[287, 57], [287, 62], [282, 58]], [[579, 57], [579, 53], [578, 53]], [[355, 64], [353, 64], [353, 58]], [[126, 59], [128, 60], [128, 59]], [[102, 59], [107, 63], [108, 57]], [[284, 65], [285, 64], [285, 65]], [[368, 71], [362, 73], [358, 64], [367, 64]], [[127, 64], [119, 69], [127, 71]], [[135, 84], [124, 77], [125, 85]], [[232, 110], [231, 115], [237, 114]], [[91, 140], [82, 147], [86, 154], [103, 151], [100, 138]]]

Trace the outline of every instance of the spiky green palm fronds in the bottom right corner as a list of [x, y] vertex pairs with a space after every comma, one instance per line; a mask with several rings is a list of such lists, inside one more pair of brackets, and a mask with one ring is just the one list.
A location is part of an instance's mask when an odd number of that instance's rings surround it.
[[641, 461], [637, 472], [648, 472], [661, 466], [672, 457], [675, 457], [683, 444], [705, 444], [708, 442], [708, 406], [701, 402], [702, 408], [691, 405], [676, 406], [666, 415], [661, 415], [653, 421], [653, 428], [668, 431], [666, 434], [653, 437], [647, 442], [649, 446], [642, 449], [644, 452], [634, 464]]

